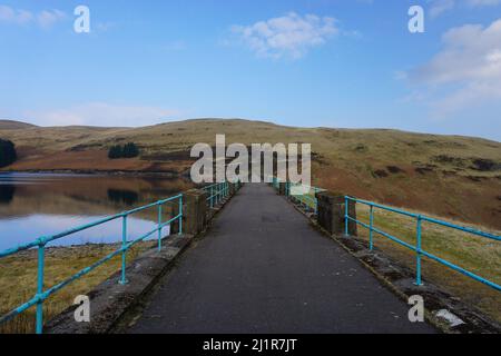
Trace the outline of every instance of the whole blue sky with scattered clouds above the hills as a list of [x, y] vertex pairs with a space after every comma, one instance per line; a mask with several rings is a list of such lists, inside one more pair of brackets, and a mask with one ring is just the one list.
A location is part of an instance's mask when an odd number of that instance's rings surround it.
[[[78, 33], [75, 9], [89, 9]], [[412, 6], [424, 32], [412, 33]], [[0, 0], [0, 118], [501, 140], [501, 0]]]

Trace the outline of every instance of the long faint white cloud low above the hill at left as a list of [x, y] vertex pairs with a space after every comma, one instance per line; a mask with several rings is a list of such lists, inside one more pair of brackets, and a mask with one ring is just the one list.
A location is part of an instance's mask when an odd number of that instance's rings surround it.
[[117, 126], [137, 127], [166, 121], [179, 111], [158, 107], [116, 106], [90, 102], [66, 109], [28, 111], [24, 116], [42, 126]]

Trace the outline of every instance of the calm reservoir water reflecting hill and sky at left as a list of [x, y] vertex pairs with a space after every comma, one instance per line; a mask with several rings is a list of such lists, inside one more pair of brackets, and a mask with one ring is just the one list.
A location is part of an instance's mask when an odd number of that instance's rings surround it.
[[[89, 224], [190, 188], [161, 177], [0, 174], [0, 250]], [[168, 219], [169, 208], [165, 209]], [[155, 228], [155, 208], [128, 218], [128, 238]], [[65, 237], [50, 246], [121, 240], [121, 220]]]

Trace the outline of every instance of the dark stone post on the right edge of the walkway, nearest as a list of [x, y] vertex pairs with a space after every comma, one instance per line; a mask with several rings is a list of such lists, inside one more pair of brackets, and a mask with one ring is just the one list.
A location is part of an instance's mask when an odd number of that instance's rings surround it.
[[[341, 194], [330, 191], [318, 191], [316, 194], [318, 200], [317, 221], [331, 235], [344, 235], [345, 225], [345, 199]], [[356, 218], [355, 204], [348, 204], [350, 216]], [[348, 233], [356, 236], [356, 224], [348, 222]]]

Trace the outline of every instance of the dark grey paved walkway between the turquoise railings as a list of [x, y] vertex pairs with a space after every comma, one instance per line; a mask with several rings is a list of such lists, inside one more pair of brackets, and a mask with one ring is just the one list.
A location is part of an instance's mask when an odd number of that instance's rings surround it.
[[245, 185], [129, 333], [434, 333], [266, 185]]

